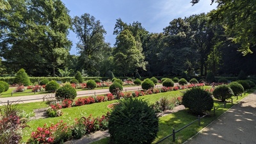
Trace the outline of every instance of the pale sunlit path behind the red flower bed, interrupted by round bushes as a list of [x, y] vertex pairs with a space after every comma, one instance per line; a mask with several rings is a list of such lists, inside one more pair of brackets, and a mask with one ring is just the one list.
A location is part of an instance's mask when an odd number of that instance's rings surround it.
[[[161, 88], [162, 84], [157, 84], [156, 88]], [[123, 92], [141, 90], [141, 86], [129, 86], [123, 88]], [[92, 96], [92, 95], [104, 95], [109, 93], [109, 89], [99, 89], [99, 90], [82, 90], [77, 92], [77, 97], [84, 96]], [[7, 102], [19, 102], [19, 103], [29, 103], [29, 102], [42, 102], [47, 99], [52, 99], [54, 97], [54, 93], [45, 93], [41, 95], [28, 95], [28, 96], [20, 96], [20, 97], [4, 97], [0, 98], [0, 106], [7, 104]]]

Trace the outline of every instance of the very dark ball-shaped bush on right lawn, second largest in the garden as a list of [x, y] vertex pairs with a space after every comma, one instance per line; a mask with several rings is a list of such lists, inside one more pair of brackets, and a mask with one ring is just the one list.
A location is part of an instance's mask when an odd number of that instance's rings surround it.
[[191, 88], [187, 90], [182, 97], [182, 104], [189, 108], [191, 113], [201, 115], [207, 111], [211, 111], [213, 107], [213, 99], [211, 93], [206, 92], [202, 88]]

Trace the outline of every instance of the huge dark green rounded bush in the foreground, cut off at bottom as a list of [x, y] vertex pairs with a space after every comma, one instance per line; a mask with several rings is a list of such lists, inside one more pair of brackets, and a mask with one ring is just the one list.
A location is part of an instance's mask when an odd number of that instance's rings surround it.
[[147, 101], [122, 99], [109, 116], [110, 143], [152, 143], [158, 122], [156, 111]]

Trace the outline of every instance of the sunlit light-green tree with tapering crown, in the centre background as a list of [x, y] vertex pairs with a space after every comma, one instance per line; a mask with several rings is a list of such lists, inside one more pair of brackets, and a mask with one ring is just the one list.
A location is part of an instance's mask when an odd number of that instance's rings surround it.
[[113, 50], [115, 72], [120, 76], [133, 74], [137, 68], [145, 69], [145, 56], [141, 46], [136, 45], [136, 40], [131, 31], [124, 29], [116, 36], [116, 47]]

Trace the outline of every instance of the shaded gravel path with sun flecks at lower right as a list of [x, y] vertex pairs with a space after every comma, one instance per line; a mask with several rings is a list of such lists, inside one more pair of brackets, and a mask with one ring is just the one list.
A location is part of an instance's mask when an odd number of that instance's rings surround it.
[[184, 144], [255, 144], [256, 91]]

